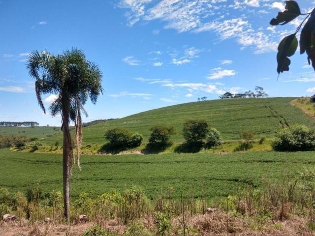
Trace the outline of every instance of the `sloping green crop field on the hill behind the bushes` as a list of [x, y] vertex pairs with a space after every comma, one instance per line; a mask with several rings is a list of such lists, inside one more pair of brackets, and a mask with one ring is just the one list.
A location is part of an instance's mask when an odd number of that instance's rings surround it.
[[[173, 125], [177, 134], [176, 143], [183, 142], [183, 122], [189, 118], [206, 120], [210, 126], [221, 132], [224, 140], [239, 139], [238, 134], [244, 130], [253, 130], [256, 138], [274, 137], [275, 132], [286, 124], [306, 124], [314, 127], [314, 119], [308, 117], [299, 108], [290, 105], [294, 98], [245, 98], [225, 99], [205, 102], [192, 102], [147, 111], [126, 118], [109, 120], [83, 129], [84, 145], [106, 143], [104, 134], [110, 128], [126, 128], [143, 134], [147, 142], [150, 128], [154, 125]], [[46, 139], [47, 144], [56, 140], [61, 143], [62, 136]]]

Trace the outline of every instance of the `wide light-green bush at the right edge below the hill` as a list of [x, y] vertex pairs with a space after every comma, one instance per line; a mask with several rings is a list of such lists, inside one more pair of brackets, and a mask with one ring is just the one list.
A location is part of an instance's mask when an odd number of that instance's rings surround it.
[[277, 151], [307, 151], [315, 149], [315, 132], [296, 124], [280, 130], [272, 147]]

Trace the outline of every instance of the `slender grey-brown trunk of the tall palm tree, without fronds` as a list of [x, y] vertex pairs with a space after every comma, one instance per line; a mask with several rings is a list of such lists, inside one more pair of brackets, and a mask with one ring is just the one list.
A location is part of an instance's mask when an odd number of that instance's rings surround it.
[[67, 96], [62, 96], [63, 112], [63, 207], [64, 217], [70, 220], [70, 146], [71, 139], [69, 133], [69, 100]]

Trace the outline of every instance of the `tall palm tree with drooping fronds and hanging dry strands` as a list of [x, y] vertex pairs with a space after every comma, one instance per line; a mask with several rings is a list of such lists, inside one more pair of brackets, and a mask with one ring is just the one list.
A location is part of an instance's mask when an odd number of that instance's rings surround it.
[[90, 97], [96, 103], [102, 93], [102, 73], [95, 63], [88, 61], [81, 50], [71, 48], [62, 55], [53, 55], [46, 51], [33, 51], [28, 59], [29, 73], [35, 78], [35, 91], [39, 106], [46, 113], [42, 94], [56, 94], [56, 100], [50, 105], [52, 116], [62, 116], [63, 130], [63, 205], [64, 217], [69, 221], [70, 172], [76, 164], [73, 154], [74, 144], [69, 130], [70, 121], [75, 124], [77, 163], [80, 167], [80, 149], [82, 144], [81, 112], [86, 116], [84, 105]]

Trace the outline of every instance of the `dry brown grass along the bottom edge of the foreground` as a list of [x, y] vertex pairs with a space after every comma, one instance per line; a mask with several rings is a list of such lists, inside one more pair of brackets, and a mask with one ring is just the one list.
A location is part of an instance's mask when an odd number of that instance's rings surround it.
[[[143, 218], [145, 228], [155, 232], [153, 217]], [[218, 212], [214, 214], [193, 215], [187, 218], [186, 236], [310, 236], [305, 222], [307, 218], [293, 217], [284, 221], [268, 220], [263, 229], [251, 228], [249, 218], [234, 217], [233, 215]], [[32, 226], [20, 226], [17, 222], [1, 223], [1, 236], [81, 236], [95, 223], [54, 225], [36, 223]], [[104, 221], [103, 229], [118, 232], [124, 235], [127, 226], [119, 223], [118, 220]], [[196, 233], [197, 232], [197, 233]], [[180, 217], [172, 221], [172, 236], [182, 235]]]

